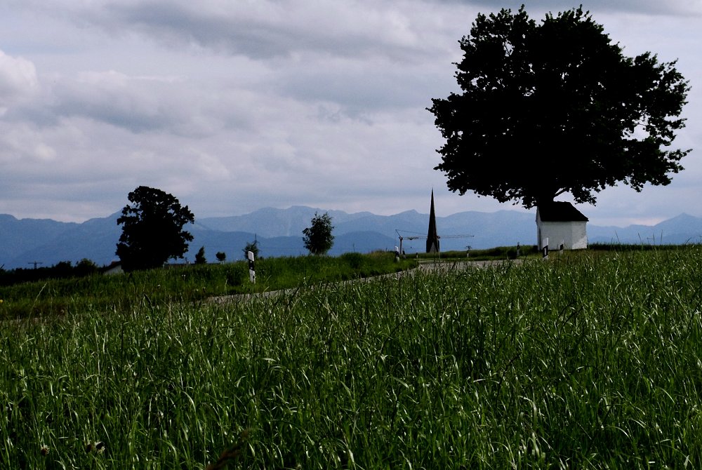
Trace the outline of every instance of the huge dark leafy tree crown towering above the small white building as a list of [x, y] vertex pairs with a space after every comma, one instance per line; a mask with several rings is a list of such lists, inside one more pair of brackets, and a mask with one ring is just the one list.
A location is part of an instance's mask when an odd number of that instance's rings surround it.
[[582, 8], [541, 23], [478, 15], [461, 41], [463, 93], [432, 100], [446, 143], [436, 170], [453, 192], [526, 208], [578, 203], [623, 182], [668, 184], [689, 150], [672, 149], [689, 86], [675, 62], [623, 55]]

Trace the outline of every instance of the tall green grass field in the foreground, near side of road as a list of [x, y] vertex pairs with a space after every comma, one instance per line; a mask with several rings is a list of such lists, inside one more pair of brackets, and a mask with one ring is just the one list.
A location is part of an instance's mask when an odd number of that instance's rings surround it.
[[0, 467], [700, 468], [701, 260], [573, 253], [232, 304], [135, 284], [110, 305], [86, 281], [62, 316], [0, 323]]

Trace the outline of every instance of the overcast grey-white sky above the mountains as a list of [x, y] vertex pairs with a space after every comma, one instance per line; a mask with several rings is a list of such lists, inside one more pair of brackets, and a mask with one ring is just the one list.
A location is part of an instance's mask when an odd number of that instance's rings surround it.
[[[432, 188], [439, 216], [523, 210], [446, 189], [425, 109], [456, 90], [477, 13], [522, 3], [541, 20], [581, 1], [0, 0], [0, 213], [82, 222], [140, 185], [196, 218], [428, 213]], [[597, 225], [702, 216], [702, 0], [582, 3], [626, 55], [678, 60], [675, 147], [693, 151], [668, 186], [578, 208]]]

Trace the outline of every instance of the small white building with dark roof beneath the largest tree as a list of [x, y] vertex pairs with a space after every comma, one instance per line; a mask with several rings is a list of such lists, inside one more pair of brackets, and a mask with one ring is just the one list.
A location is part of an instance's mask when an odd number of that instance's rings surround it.
[[536, 208], [536, 241], [539, 249], [548, 239], [549, 250], [588, 248], [588, 217], [569, 202], [554, 201]]

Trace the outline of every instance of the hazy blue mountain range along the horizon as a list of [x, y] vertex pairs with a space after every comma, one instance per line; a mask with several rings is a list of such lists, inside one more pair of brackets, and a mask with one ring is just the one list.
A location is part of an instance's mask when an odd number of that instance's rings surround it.
[[[329, 213], [335, 236], [330, 255], [373, 250], [393, 250], [399, 246], [406, 253], [425, 250], [429, 215], [409, 210], [395, 215], [369, 212], [345, 213], [306, 206], [287, 209], [264, 208], [246, 215], [204, 217], [186, 227], [194, 236], [185, 260], [205, 247], [207, 260], [224, 252], [227, 260], [243, 259], [246, 243], [258, 241], [263, 257], [297, 256], [307, 253], [302, 231], [315, 213]], [[114, 255], [121, 226], [120, 213], [86, 222], [57, 222], [50, 219], [17, 219], [0, 215], [0, 267], [4, 269], [51, 266], [61, 261], [78, 262], [84, 258], [98, 265], [117, 260]], [[494, 246], [528, 246], [536, 243], [534, 213], [500, 210], [494, 213], [468, 211], [437, 217], [441, 249], [467, 250]], [[656, 225], [598, 227], [588, 224], [590, 243], [682, 244], [702, 241], [702, 217], [681, 214]]]

